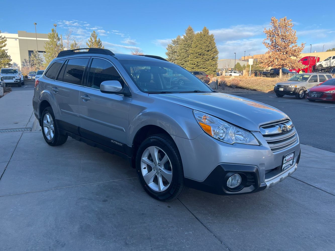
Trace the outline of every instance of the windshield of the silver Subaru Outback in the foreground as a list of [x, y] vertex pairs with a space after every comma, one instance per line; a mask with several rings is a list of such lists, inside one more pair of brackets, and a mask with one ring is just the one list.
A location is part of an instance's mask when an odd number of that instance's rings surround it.
[[184, 68], [165, 61], [120, 60], [137, 87], [145, 93], [213, 92]]

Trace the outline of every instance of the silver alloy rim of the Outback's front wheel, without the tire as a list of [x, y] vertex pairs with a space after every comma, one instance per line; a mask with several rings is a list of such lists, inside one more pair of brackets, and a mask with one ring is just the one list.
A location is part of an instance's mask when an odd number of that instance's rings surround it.
[[145, 183], [156, 192], [163, 192], [172, 182], [172, 165], [167, 154], [150, 146], [142, 154], [141, 170]]

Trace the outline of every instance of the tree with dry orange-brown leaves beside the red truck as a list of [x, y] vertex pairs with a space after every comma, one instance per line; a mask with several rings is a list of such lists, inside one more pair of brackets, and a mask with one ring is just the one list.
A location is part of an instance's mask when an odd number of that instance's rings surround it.
[[279, 68], [279, 77], [281, 77], [281, 68], [297, 69], [302, 67], [297, 58], [304, 50], [305, 44], [297, 45], [296, 30], [292, 29], [291, 19], [283, 17], [278, 21], [272, 17], [270, 26], [269, 29], [264, 28], [266, 38], [263, 44], [268, 51], [265, 53], [265, 57], [260, 59], [260, 63], [263, 67]]

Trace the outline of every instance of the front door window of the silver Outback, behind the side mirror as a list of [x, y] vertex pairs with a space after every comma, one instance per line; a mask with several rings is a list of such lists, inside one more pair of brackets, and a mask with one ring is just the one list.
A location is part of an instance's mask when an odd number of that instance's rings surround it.
[[100, 90], [100, 84], [108, 80], [117, 80], [124, 86], [123, 79], [115, 67], [104, 59], [93, 58], [88, 73], [87, 86]]

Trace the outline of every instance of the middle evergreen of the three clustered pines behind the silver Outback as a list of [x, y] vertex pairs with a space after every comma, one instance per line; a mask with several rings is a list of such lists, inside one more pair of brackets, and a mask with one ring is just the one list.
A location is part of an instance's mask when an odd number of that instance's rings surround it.
[[175, 64], [180, 65], [184, 68], [188, 66], [193, 38], [194, 38], [194, 30], [191, 26], [188, 26], [188, 28], [185, 30], [185, 35], [183, 36], [183, 38], [179, 43]]

